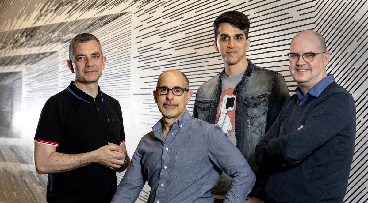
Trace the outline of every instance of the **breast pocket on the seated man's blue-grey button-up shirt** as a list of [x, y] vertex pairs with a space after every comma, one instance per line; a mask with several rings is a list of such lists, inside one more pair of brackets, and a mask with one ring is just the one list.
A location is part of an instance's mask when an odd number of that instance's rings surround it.
[[198, 176], [201, 152], [177, 152], [175, 178], [179, 181], [193, 181]]

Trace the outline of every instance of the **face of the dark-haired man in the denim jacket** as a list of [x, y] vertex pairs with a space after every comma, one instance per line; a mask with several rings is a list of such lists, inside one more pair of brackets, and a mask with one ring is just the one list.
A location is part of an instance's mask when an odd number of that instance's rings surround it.
[[250, 40], [245, 33], [229, 23], [221, 23], [219, 35], [214, 41], [216, 51], [220, 51], [225, 65], [247, 63], [245, 51], [249, 49]]

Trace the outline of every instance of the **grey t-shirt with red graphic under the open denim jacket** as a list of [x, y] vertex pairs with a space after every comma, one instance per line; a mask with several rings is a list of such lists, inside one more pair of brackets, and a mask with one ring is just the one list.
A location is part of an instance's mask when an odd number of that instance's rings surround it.
[[[222, 76], [222, 93], [220, 96], [219, 106], [216, 111], [215, 124], [226, 132], [227, 137], [236, 145], [235, 139], [235, 109], [236, 109], [236, 94], [234, 90], [236, 85], [243, 78], [245, 70], [234, 77], [227, 77], [225, 74]], [[240, 122], [240, 121], [239, 121]], [[227, 190], [230, 187], [231, 178], [224, 172], [215, 188], [211, 190], [212, 196], [217, 199], [224, 199]]]

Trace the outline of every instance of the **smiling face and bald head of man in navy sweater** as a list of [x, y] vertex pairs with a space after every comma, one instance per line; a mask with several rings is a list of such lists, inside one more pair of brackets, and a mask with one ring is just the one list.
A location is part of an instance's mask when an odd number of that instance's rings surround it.
[[[321, 41], [314, 31], [307, 30], [298, 33], [290, 44], [290, 53], [320, 53], [322, 50]], [[290, 74], [298, 83], [303, 93], [307, 93], [316, 83], [327, 76], [326, 66], [330, 60], [328, 51], [316, 54], [312, 62], [305, 62], [302, 56], [299, 56], [297, 62], [290, 62]], [[305, 92], [306, 91], [306, 92]]]

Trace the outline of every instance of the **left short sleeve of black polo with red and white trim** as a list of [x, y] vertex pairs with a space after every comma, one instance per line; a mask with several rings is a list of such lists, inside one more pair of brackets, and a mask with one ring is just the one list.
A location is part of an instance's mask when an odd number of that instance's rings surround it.
[[33, 142], [58, 147], [63, 129], [64, 119], [60, 106], [47, 100], [42, 108]]

